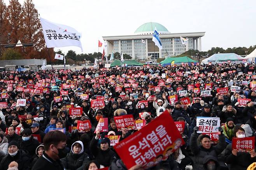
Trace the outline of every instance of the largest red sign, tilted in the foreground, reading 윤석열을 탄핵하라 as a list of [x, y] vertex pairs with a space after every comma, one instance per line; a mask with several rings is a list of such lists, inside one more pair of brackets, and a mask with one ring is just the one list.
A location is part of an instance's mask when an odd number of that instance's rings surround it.
[[114, 149], [128, 169], [137, 164], [147, 169], [161, 161], [156, 160], [157, 156], [163, 155], [163, 160], [167, 159], [183, 144], [172, 117], [165, 111], [146, 127], [116, 144]]

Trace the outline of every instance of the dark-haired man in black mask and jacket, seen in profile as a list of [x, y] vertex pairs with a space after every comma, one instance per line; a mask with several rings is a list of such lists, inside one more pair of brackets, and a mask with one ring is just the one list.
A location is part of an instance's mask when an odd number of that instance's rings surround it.
[[67, 137], [59, 130], [48, 132], [44, 136], [43, 155], [37, 160], [32, 170], [64, 170], [61, 158], [66, 156]]

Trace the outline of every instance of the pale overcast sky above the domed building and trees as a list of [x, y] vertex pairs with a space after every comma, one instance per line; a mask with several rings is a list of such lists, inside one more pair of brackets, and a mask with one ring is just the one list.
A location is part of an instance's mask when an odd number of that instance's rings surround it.
[[[7, 5], [9, 0], [5, 0]], [[23, 0], [19, 0], [23, 4]], [[40, 16], [82, 33], [83, 53], [102, 36], [131, 35], [156, 22], [171, 33], [205, 31], [202, 50], [256, 45], [256, 0], [33, 0]], [[63, 47], [82, 53], [79, 47]]]

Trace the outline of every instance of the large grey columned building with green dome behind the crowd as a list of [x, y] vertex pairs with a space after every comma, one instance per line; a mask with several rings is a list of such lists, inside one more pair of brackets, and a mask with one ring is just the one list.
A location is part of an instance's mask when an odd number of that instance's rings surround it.
[[[162, 50], [152, 41], [155, 27], [161, 39]], [[151, 55], [151, 59], [177, 56], [190, 49], [201, 51], [201, 37], [204, 35], [205, 32], [170, 33], [159, 23], [145, 23], [133, 35], [103, 36], [103, 40], [107, 42], [107, 55], [119, 52], [142, 60]], [[180, 36], [188, 39], [186, 44], [181, 43]]]

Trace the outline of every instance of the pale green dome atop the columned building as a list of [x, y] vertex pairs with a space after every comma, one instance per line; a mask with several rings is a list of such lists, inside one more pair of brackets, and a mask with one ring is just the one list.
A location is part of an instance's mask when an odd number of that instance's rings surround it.
[[157, 29], [158, 32], [168, 32], [168, 30], [161, 24], [159, 23], [145, 23], [143, 25], [141, 25], [139, 28], [136, 29], [136, 31], [134, 33], [141, 33], [141, 32], [147, 32], [147, 31], [150, 31], [150, 32], [153, 32], [154, 29]]

